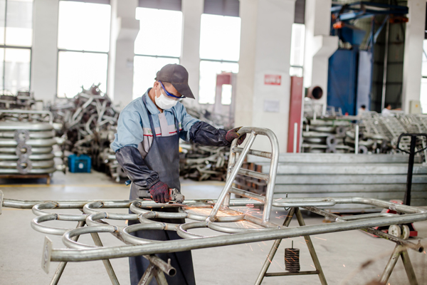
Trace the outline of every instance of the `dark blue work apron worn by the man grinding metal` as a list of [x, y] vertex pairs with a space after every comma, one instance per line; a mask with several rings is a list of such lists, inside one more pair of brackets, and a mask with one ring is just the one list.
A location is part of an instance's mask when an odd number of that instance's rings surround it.
[[[149, 126], [152, 129], [153, 141], [149, 147], [147, 156], [144, 158], [145, 165], [150, 170], [154, 170], [159, 173], [160, 181], [166, 183], [169, 188], [176, 188], [181, 190], [181, 184], [179, 182], [179, 123], [174, 113], [176, 135], [169, 137], [157, 137], [154, 129], [152, 116], [147, 108], [147, 101], [145, 96], [142, 96], [144, 106], [148, 113]], [[130, 190], [130, 199], [138, 199], [141, 197], [144, 190], [137, 190], [137, 187], [133, 183]], [[178, 212], [178, 208], [165, 208], [156, 209], [156, 211], [162, 212]], [[157, 222], [177, 223], [184, 224], [185, 219], [153, 219]], [[129, 224], [137, 224], [139, 221], [129, 221]], [[155, 239], [161, 241], [167, 241], [172, 239], [181, 239], [178, 234], [174, 231], [163, 231], [163, 230], [145, 230], [139, 232], [133, 232], [132, 235], [135, 237], [141, 237], [143, 239]], [[167, 262], [171, 259], [172, 266], [176, 269], [176, 275], [174, 277], [164, 274], [169, 285], [193, 285], [196, 284], [194, 279], [193, 259], [191, 257], [191, 251], [186, 252], [172, 252], [168, 254], [156, 254], [157, 257]], [[149, 261], [144, 257], [130, 257], [130, 283], [137, 285], [139, 280], [142, 278], [144, 271], [149, 266]], [[153, 278], [150, 285], [156, 285], [157, 282]]]

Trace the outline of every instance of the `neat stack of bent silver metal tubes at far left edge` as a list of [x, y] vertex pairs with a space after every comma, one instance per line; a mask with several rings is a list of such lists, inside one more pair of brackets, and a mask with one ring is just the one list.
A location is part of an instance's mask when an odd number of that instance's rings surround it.
[[[50, 175], [65, 171], [52, 114], [48, 111], [0, 110], [0, 174]], [[54, 150], [56, 147], [56, 150]], [[48, 182], [50, 179], [48, 178]]]

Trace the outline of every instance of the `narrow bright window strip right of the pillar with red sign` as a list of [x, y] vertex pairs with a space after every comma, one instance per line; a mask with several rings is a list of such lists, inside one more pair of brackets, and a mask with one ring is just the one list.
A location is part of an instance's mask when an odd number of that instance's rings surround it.
[[302, 77], [304, 66], [304, 40], [305, 25], [292, 24], [292, 36], [290, 39], [290, 76]]

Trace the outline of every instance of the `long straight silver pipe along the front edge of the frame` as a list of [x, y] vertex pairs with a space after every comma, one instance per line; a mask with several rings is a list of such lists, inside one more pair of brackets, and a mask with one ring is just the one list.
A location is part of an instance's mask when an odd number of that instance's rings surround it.
[[[399, 215], [399, 217], [381, 217], [374, 219], [364, 219], [356, 220], [349, 222], [341, 223], [331, 223], [331, 224], [316, 224], [304, 227], [288, 228], [288, 229], [275, 229], [265, 232], [247, 232], [241, 234], [232, 234], [226, 236], [218, 237], [204, 237], [203, 239], [180, 239], [167, 242], [150, 242], [149, 244], [143, 245], [125, 245], [120, 247], [108, 247], [108, 248], [93, 248], [93, 249], [84, 249], [86, 246], [81, 247], [82, 249], [53, 249], [51, 253], [51, 261], [90, 261], [98, 259], [114, 259], [120, 257], [136, 257], [139, 255], [146, 254], [159, 254], [167, 252], [181, 252], [191, 249], [202, 249], [207, 247], [221, 247], [231, 244], [243, 244], [248, 242], [260, 242], [272, 239], [284, 239], [288, 237], [300, 237], [300, 236], [309, 236], [314, 234], [326, 234], [329, 232], [343, 232], [353, 229], [366, 229], [368, 227], [381, 227], [388, 226], [391, 224], [407, 224], [411, 222], [418, 222], [427, 219], [427, 214], [407, 214]], [[186, 230], [182, 230], [181, 234], [179, 229], [197, 228], [197, 227], [206, 227], [205, 222], [181, 224], [177, 233], [182, 237], [188, 235], [188, 237], [201, 237], [195, 234], [190, 234]], [[132, 226], [130, 226], [132, 227]], [[80, 231], [80, 229], [73, 229], [70, 232], [75, 234], [83, 234], [89, 232], [111, 232], [114, 230], [113, 227], [93, 227], [90, 229], [88, 227], [85, 231]], [[68, 233], [65, 233], [63, 236], [63, 242], [68, 246], [68, 243], [65, 243], [64, 237], [72, 237]]]

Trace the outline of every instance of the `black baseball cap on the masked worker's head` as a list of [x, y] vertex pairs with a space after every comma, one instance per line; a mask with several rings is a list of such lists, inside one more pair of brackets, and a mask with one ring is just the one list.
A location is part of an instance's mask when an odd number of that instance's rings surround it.
[[186, 98], [194, 99], [194, 95], [189, 86], [189, 73], [184, 66], [180, 66], [176, 63], [167, 64], [163, 66], [160, 71], [157, 71], [157, 76], [154, 79], [157, 81], [169, 82], [181, 95]]

